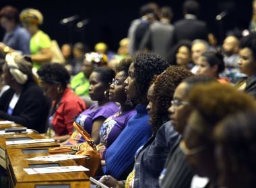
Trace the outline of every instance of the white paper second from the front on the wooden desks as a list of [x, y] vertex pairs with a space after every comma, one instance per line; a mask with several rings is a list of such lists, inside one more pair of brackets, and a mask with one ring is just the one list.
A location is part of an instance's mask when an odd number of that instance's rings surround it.
[[87, 156], [82, 155], [71, 155], [71, 154], [53, 154], [46, 156], [36, 156], [33, 158], [26, 158], [27, 160], [37, 160], [37, 161], [51, 161], [56, 162], [59, 160], [69, 160], [74, 158], [86, 158]]

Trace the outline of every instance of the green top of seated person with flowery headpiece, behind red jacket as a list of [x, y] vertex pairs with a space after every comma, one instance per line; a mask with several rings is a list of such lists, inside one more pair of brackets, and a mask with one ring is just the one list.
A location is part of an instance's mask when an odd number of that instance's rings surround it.
[[73, 79], [71, 79], [70, 86], [76, 95], [89, 96], [90, 83], [83, 72], [78, 73], [77, 75], [75, 75], [75, 77], [73, 77]]

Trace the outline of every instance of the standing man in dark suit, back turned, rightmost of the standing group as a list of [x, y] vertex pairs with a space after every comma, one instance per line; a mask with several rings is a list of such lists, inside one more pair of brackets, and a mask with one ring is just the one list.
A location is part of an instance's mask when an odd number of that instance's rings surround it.
[[187, 0], [183, 4], [184, 19], [174, 23], [174, 42], [180, 40], [203, 39], [207, 41], [207, 25], [205, 21], [197, 19], [199, 15], [199, 3], [195, 0]]

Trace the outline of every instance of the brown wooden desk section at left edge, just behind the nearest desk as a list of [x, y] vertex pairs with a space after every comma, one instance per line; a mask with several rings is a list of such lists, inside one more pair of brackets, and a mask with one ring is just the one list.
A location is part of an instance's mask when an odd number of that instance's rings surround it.
[[30, 139], [42, 139], [44, 136], [40, 134], [32, 133], [21, 133], [21, 134], [5, 134], [0, 136], [0, 165], [6, 169], [6, 149], [14, 148], [42, 148], [42, 147], [58, 147], [57, 142], [46, 142], [36, 144], [18, 144], [6, 146], [5, 141], [11, 138], [30, 138]]

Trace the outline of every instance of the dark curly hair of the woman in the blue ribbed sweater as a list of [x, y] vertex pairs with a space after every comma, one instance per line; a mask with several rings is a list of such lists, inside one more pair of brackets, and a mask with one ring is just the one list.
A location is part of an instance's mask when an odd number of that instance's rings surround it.
[[137, 103], [146, 99], [150, 81], [169, 66], [159, 54], [137, 54], [134, 59], [135, 92]]

